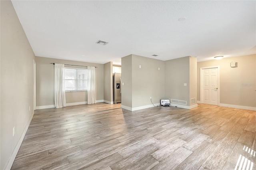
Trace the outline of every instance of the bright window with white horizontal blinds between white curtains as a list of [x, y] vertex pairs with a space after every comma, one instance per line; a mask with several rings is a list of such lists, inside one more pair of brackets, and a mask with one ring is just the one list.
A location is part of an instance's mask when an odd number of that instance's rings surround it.
[[65, 68], [65, 91], [87, 90], [87, 69]]

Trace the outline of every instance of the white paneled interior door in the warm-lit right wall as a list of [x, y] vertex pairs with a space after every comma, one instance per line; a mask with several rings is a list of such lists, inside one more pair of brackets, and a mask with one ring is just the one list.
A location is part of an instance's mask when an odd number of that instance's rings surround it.
[[201, 71], [201, 103], [218, 105], [218, 67]]

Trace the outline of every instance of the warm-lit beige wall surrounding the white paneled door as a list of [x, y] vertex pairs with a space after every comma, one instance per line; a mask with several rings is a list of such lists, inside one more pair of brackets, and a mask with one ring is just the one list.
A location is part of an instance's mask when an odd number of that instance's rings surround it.
[[[237, 62], [238, 67], [230, 67], [232, 61]], [[220, 103], [256, 107], [256, 54], [198, 62], [198, 101], [200, 101], [200, 68], [211, 66], [220, 66]]]

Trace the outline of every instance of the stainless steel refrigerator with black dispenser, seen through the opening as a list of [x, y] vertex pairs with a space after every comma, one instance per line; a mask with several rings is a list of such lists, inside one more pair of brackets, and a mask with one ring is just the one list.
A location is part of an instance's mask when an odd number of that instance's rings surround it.
[[121, 103], [121, 73], [113, 73], [113, 99], [114, 104]]

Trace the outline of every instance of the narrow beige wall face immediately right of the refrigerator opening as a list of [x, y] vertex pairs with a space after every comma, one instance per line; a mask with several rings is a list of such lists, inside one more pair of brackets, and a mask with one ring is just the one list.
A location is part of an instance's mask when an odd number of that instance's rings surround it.
[[122, 106], [132, 107], [132, 55], [122, 57]]

